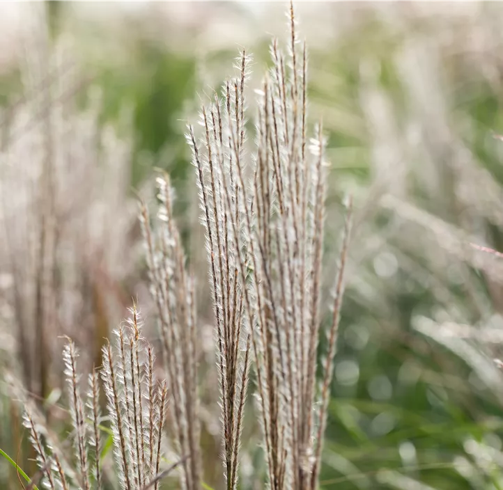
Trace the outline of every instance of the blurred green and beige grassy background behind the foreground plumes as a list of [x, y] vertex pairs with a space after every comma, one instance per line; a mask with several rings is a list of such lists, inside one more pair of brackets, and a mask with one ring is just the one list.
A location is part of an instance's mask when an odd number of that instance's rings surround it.
[[[295, 8], [309, 117], [323, 119], [331, 162], [327, 297], [343, 199], [355, 199], [321, 487], [502, 489], [503, 258], [472, 244], [503, 250], [503, 2]], [[205, 479], [222, 487], [206, 255], [183, 133], [243, 48], [254, 55], [253, 100], [271, 37], [286, 39], [285, 13], [283, 1], [0, 2], [0, 448], [26, 473], [36, 468], [8, 379], [64, 445], [61, 336], [83, 365], [99, 364], [135, 298], [155, 342], [137, 196], [153, 199], [162, 168], [199, 271]], [[261, 489], [248, 407], [241, 485]], [[18, 486], [0, 459], [0, 488]]]

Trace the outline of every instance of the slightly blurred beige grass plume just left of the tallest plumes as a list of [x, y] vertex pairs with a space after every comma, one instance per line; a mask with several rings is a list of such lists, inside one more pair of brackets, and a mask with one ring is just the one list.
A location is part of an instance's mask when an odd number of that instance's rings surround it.
[[141, 205], [150, 290], [157, 305], [162, 354], [171, 395], [173, 435], [181, 455], [183, 489], [201, 488], [199, 410], [197, 395], [196, 306], [194, 278], [185, 269], [185, 255], [173, 221], [169, 177], [157, 179], [160, 227], [153, 235], [147, 207]]

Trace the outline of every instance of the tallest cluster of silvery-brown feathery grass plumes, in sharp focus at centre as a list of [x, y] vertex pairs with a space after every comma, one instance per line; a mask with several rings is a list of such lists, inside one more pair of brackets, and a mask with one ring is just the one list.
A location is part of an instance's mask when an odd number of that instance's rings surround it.
[[247, 379], [238, 373], [247, 371], [248, 349], [272, 489], [316, 488], [330, 395], [350, 219], [318, 394], [325, 141], [318, 127], [306, 152], [307, 50], [298, 47], [293, 6], [289, 20], [287, 54], [274, 40], [272, 68], [258, 90], [255, 150], [247, 148], [244, 51], [222, 97], [201, 108], [200, 141], [187, 128], [210, 264], [229, 490], [237, 485]]

